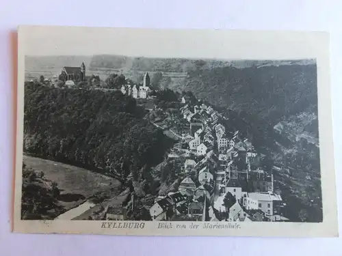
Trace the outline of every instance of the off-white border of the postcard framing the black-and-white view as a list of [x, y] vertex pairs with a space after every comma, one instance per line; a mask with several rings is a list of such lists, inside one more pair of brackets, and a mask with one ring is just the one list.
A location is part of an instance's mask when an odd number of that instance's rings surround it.
[[[61, 33], [63, 31], [63, 33]], [[47, 39], [49, 35], [62, 35], [64, 38], [85, 40], [88, 35], [97, 38], [95, 42], [83, 46], [83, 51], [93, 54], [91, 44], [98, 49], [106, 49], [107, 44], [116, 41], [124, 48], [122, 55], [133, 49], [131, 55], [139, 52], [130, 39], [144, 39], [146, 49], [142, 47], [140, 54], [145, 57], [146, 51], [155, 49], [159, 57], [217, 58], [217, 59], [312, 59], [317, 60], [319, 145], [321, 160], [321, 190], [323, 200], [322, 223], [256, 223], [237, 222], [230, 227], [203, 228], [204, 225], [228, 225], [228, 222], [172, 222], [172, 228], [158, 228], [159, 222], [107, 222], [107, 221], [22, 221], [21, 220], [21, 183], [23, 162], [23, 102], [25, 55], [38, 54], [39, 39]], [[99, 38], [98, 38], [99, 37]], [[115, 40], [124, 37], [124, 40]], [[152, 38], [153, 40], [149, 40]], [[167, 39], [167, 40], [166, 40]], [[202, 41], [198, 41], [201, 40]], [[103, 40], [109, 40], [103, 44]], [[119, 42], [118, 42], [119, 41]], [[36, 45], [34, 45], [36, 42]], [[168, 42], [168, 44], [167, 44]], [[142, 42], [140, 42], [142, 43]], [[47, 39], [42, 52], [61, 55], [65, 45], [63, 42]], [[87, 47], [88, 50], [87, 50]], [[85, 50], [86, 49], [86, 50]], [[45, 52], [44, 52], [45, 53]], [[69, 54], [69, 53], [65, 53]], [[78, 53], [77, 53], [78, 54]], [[96, 54], [96, 53], [94, 53]], [[116, 53], [116, 54], [120, 54]], [[168, 56], [170, 55], [170, 56]], [[175, 29], [110, 29], [90, 27], [44, 27], [21, 26], [18, 29], [18, 87], [17, 87], [17, 124], [16, 124], [16, 170], [14, 192], [14, 231], [20, 233], [92, 233], [107, 235], [134, 236], [281, 236], [281, 237], [337, 237], [337, 195], [335, 186], [334, 151], [332, 143], [332, 111], [330, 95], [330, 59], [329, 36], [324, 32], [300, 31], [206, 31]], [[104, 227], [103, 223], [108, 227]], [[116, 223], [116, 227], [113, 227]], [[141, 223], [144, 228], [122, 228], [118, 223]], [[135, 224], [137, 223], [137, 224]], [[171, 223], [164, 222], [163, 223]], [[109, 227], [111, 225], [111, 227]], [[178, 226], [179, 225], [179, 226]], [[186, 225], [185, 228], [182, 225]], [[191, 228], [190, 225], [198, 225]]]

